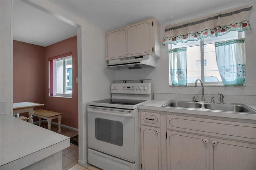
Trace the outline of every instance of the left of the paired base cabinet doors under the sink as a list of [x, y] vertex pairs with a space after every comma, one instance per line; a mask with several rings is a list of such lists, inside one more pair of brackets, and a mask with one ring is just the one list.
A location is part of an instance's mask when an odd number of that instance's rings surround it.
[[209, 137], [167, 130], [168, 170], [209, 170]]

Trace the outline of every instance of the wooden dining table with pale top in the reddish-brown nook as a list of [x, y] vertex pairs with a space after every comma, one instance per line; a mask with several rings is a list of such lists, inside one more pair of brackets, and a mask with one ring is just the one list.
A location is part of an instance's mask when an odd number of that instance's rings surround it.
[[28, 112], [28, 122], [33, 123], [33, 108], [38, 106], [44, 106], [44, 104], [32, 102], [13, 103], [13, 114]]

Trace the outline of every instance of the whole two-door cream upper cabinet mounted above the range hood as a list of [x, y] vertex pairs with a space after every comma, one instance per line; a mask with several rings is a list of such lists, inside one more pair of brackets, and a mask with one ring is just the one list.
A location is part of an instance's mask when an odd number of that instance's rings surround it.
[[160, 56], [160, 25], [155, 18], [106, 33], [106, 60], [148, 54]]

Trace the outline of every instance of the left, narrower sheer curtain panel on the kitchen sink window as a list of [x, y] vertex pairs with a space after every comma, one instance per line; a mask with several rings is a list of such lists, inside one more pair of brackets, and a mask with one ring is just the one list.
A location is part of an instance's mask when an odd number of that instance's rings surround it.
[[186, 48], [169, 50], [170, 75], [173, 86], [187, 85]]

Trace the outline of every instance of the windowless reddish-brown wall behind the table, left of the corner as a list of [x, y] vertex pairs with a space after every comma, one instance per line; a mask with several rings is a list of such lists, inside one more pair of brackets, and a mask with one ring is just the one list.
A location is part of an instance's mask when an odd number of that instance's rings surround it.
[[13, 103], [45, 101], [45, 47], [13, 41]]

